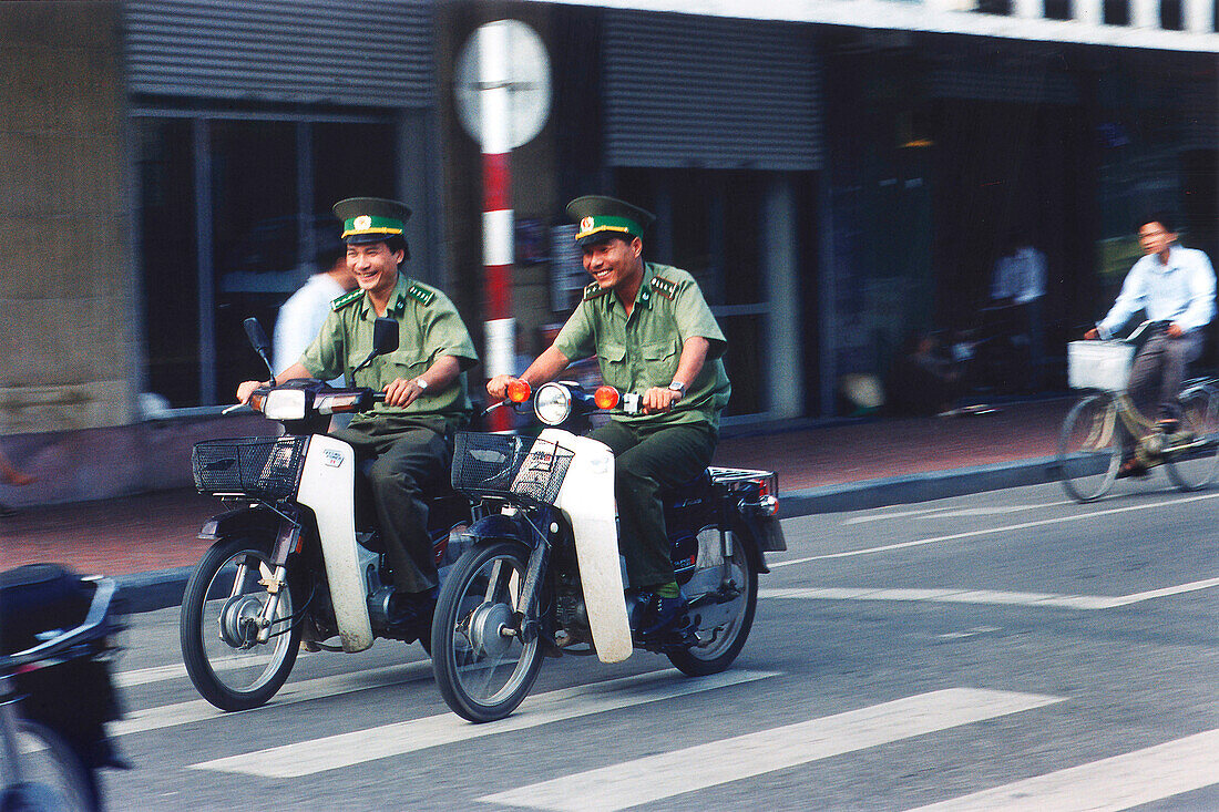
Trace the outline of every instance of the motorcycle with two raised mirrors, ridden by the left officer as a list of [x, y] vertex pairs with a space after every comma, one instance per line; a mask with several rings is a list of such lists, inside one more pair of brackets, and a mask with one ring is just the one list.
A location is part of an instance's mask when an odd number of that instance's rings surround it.
[[[246, 333], [267, 362], [256, 319]], [[379, 318], [374, 349], [354, 371], [397, 349], [397, 323]], [[374, 638], [412, 643], [390, 622], [393, 595], [384, 546], [355, 450], [325, 434], [332, 416], [366, 412], [384, 393], [291, 380], [255, 390], [249, 406], [284, 426], [277, 438], [195, 445], [200, 493], [229, 508], [204, 525], [215, 544], [187, 584], [179, 636], [199, 693], [226, 711], [244, 711], [283, 686], [297, 651], [363, 651]], [[472, 521], [452, 490], [429, 497], [428, 530], [438, 566], [455, 560], [450, 540]], [[338, 644], [329, 643], [338, 638]], [[428, 647], [428, 640], [421, 640]]]

